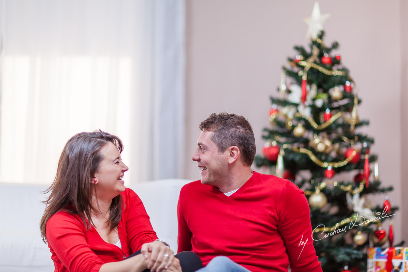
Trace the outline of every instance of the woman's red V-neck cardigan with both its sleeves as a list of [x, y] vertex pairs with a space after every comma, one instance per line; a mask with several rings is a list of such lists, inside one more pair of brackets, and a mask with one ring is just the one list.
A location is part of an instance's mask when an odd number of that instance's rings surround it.
[[144, 243], [157, 239], [140, 198], [126, 188], [118, 232], [122, 249], [106, 243], [92, 226], [86, 231], [78, 215], [57, 212], [47, 222], [46, 237], [55, 272], [98, 272], [104, 263], [122, 261]]

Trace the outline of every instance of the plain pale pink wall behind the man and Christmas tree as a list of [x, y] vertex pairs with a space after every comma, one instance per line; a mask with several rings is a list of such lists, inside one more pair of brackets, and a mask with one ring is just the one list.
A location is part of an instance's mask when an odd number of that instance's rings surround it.
[[[307, 44], [302, 18], [310, 16], [313, 3], [186, 0], [185, 178], [200, 178], [191, 155], [200, 133], [198, 124], [213, 112], [247, 117], [254, 128], [257, 153], [261, 153], [269, 96], [278, 94], [281, 66], [294, 54], [293, 46]], [[401, 178], [408, 163], [402, 152], [407, 150], [403, 135], [408, 133], [404, 108], [408, 95], [402, 92], [408, 86], [408, 19], [401, 14], [406, 14], [408, 5], [404, 0], [319, 3], [322, 13], [331, 13], [324, 24], [325, 41], [339, 42], [343, 63], [360, 90], [359, 117], [371, 122], [362, 132], [375, 138], [372, 152], [379, 155], [380, 179], [385, 186], [394, 186], [391, 204], [400, 207], [393, 219], [395, 241], [408, 241], [408, 219], [403, 219], [408, 211], [408, 186]], [[371, 200], [382, 203], [383, 196]]]

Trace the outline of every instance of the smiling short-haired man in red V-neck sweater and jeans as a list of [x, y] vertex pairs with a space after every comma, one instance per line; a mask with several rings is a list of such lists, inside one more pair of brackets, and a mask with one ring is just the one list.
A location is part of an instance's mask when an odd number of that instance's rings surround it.
[[204, 265], [225, 256], [204, 271], [287, 272], [290, 264], [292, 272], [322, 272], [304, 192], [251, 171], [256, 150], [248, 120], [213, 113], [200, 130], [192, 159], [202, 178], [180, 192], [178, 251], [195, 252]]

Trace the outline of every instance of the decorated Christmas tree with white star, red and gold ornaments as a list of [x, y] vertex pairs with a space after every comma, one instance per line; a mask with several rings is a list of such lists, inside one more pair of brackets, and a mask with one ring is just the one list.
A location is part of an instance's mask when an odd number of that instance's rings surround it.
[[379, 181], [377, 155], [369, 152], [374, 139], [361, 132], [369, 122], [359, 120], [361, 100], [337, 53], [339, 44], [323, 42], [327, 17], [315, 4], [306, 19], [310, 44], [295, 46], [298, 55], [288, 57], [289, 66], [283, 67], [279, 97], [271, 97], [271, 126], [262, 136], [263, 155], [255, 164], [305, 191], [323, 271], [346, 266], [366, 271], [367, 248], [393, 243], [392, 227], [383, 230], [381, 223], [397, 207], [388, 199], [373, 207], [365, 198], [393, 188]]

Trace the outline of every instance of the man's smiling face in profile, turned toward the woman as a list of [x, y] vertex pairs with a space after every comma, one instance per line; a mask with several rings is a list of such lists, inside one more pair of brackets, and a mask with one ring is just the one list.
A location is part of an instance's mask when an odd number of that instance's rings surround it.
[[228, 173], [228, 149], [219, 153], [211, 139], [213, 134], [208, 130], [201, 132], [192, 159], [201, 170], [201, 183], [219, 187]]

